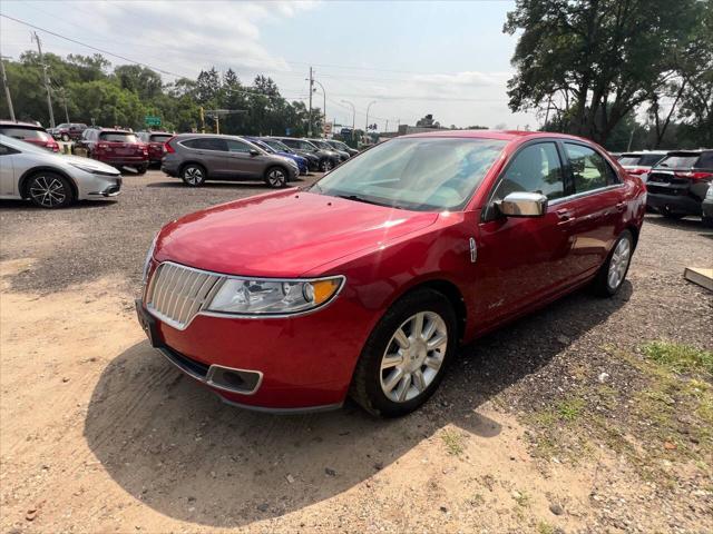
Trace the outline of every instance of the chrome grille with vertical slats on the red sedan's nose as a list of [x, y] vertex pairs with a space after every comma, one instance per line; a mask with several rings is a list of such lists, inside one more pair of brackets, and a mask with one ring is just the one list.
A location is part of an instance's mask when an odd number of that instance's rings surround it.
[[160, 264], [146, 293], [146, 309], [183, 330], [213, 298], [222, 276], [170, 261]]

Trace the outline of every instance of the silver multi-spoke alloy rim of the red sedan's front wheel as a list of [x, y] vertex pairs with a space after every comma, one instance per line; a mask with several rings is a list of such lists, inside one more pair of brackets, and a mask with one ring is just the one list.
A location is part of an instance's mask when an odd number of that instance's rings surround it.
[[448, 327], [434, 312], [419, 312], [394, 332], [381, 358], [381, 389], [394, 403], [421, 395], [438, 376], [448, 347]]

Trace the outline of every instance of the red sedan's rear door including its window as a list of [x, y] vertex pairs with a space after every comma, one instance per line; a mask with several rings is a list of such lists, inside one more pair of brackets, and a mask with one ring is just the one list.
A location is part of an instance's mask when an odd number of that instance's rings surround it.
[[578, 280], [592, 275], [606, 259], [618, 237], [626, 207], [623, 184], [594, 148], [577, 141], [561, 144], [573, 195], [553, 202], [568, 231], [568, 276]]

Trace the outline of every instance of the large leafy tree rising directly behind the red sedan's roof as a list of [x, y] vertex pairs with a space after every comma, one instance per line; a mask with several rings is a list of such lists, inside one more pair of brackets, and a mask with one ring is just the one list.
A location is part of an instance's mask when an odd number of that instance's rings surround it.
[[517, 0], [504, 31], [520, 32], [508, 81], [514, 111], [555, 108], [566, 131], [605, 142], [675, 77], [696, 0]]

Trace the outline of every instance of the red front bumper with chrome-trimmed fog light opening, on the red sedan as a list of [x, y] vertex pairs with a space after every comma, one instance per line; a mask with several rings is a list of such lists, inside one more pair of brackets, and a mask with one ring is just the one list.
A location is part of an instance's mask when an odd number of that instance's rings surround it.
[[[152, 316], [140, 300], [136, 309], [152, 345], [226, 403], [276, 413], [314, 412], [341, 406], [375, 320], [373, 312], [342, 297], [293, 317], [197, 315], [183, 330]], [[260, 375], [260, 380], [250, 390], [226, 388], [214, 368]]]

